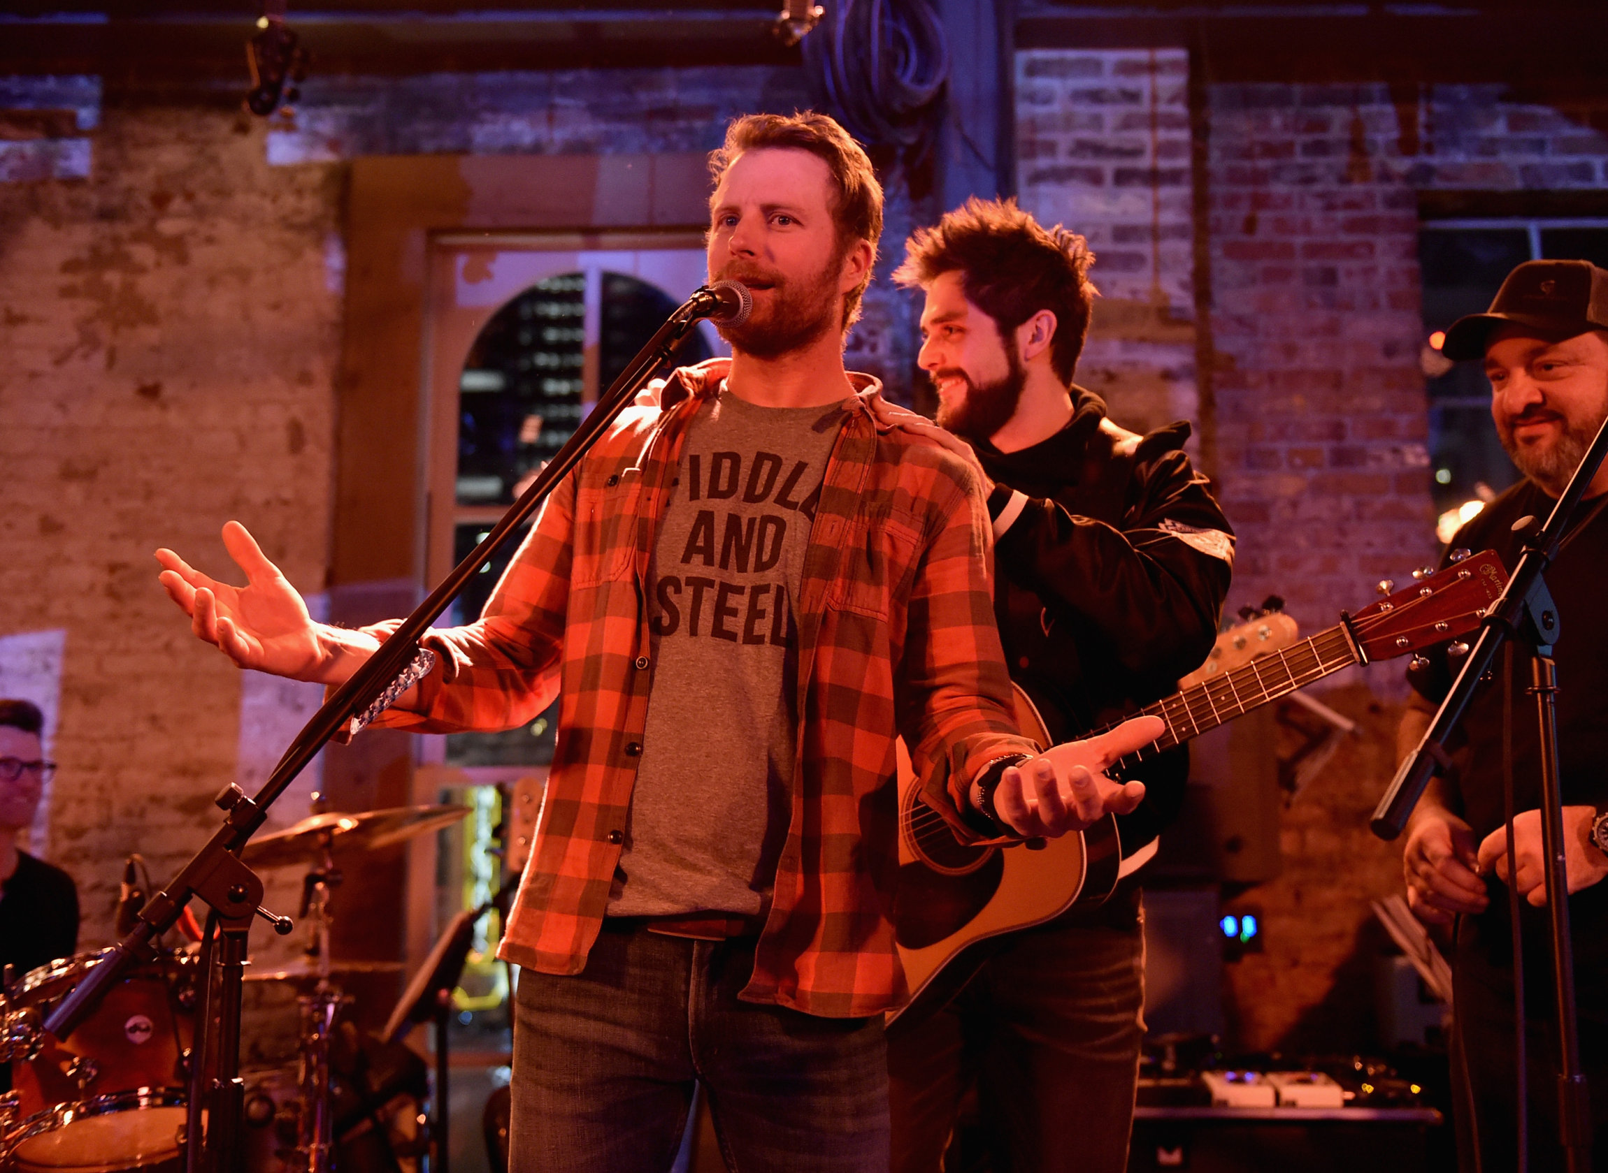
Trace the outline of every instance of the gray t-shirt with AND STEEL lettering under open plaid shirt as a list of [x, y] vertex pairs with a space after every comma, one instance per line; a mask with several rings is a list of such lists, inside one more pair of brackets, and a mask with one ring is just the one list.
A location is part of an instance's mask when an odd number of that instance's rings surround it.
[[843, 408], [722, 392], [653, 562], [653, 694], [611, 916], [769, 909], [798, 747], [794, 598]]

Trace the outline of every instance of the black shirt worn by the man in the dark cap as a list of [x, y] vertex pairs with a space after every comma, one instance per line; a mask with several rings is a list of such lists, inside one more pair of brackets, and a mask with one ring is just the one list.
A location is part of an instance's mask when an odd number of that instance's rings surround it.
[[[1502, 493], [1458, 535], [1452, 548], [1495, 550], [1508, 570], [1518, 566], [1521, 538], [1513, 522], [1534, 516], [1547, 519], [1555, 501], [1529, 480]], [[1557, 561], [1547, 569], [1547, 588], [1558, 606], [1558, 636], [1553, 659], [1558, 665], [1558, 776], [1565, 805], [1608, 805], [1608, 508], [1594, 513], [1598, 501], [1576, 508], [1574, 529], [1565, 535]], [[1462, 815], [1479, 839], [1503, 823], [1502, 808], [1502, 665], [1507, 649], [1497, 654], [1492, 681], [1481, 686], [1462, 723], [1462, 744], [1452, 752], [1450, 792]], [[1531, 660], [1521, 644], [1512, 646], [1513, 697], [1513, 800], [1515, 811], [1540, 805], [1540, 733], [1531, 686]], [[1413, 686], [1439, 702], [1452, 673], [1442, 649], [1431, 654], [1426, 673], [1412, 673]], [[1582, 1017], [1608, 1022], [1608, 1006], [1589, 991], [1608, 982], [1608, 882], [1569, 898], [1574, 938], [1576, 987]], [[1545, 909], [1526, 906], [1524, 929], [1526, 1001], [1537, 1012], [1550, 990], [1550, 938]], [[1495, 967], [1512, 964], [1507, 890], [1491, 881], [1491, 908], [1475, 919], [1470, 937], [1475, 956]], [[1536, 967], [1539, 966], [1539, 969]]]

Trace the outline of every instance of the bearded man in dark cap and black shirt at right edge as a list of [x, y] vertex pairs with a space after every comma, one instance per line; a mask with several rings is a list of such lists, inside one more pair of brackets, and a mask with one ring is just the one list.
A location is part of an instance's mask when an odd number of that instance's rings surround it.
[[[1513, 566], [1529, 527], [1545, 519], [1608, 418], [1608, 272], [1584, 260], [1531, 260], [1502, 283], [1487, 313], [1458, 320], [1442, 354], [1484, 360], [1491, 418], [1524, 479], [1470, 521], [1450, 548], [1495, 550]], [[1594, 1168], [1608, 1168], [1608, 464], [1576, 509], [1547, 588], [1558, 604], [1558, 758], [1581, 995], [1581, 1057], [1590, 1089]], [[1446, 559], [1449, 561], [1450, 554]], [[1409, 670], [1415, 689], [1397, 750], [1417, 749], [1450, 688], [1446, 649]], [[1475, 694], [1452, 768], [1430, 783], [1407, 824], [1402, 866], [1420, 919], [1450, 932], [1452, 1097], [1465, 1170], [1518, 1168], [1515, 995], [1510, 890], [1524, 938], [1529, 1168], [1563, 1168], [1558, 1144], [1558, 1040], [1547, 892], [1542, 885], [1540, 742], [1531, 664], [1508, 646], [1495, 681]], [[1505, 680], [1503, 680], [1505, 676]], [[1510, 874], [1503, 810], [1503, 730], [1512, 733], [1518, 868]]]

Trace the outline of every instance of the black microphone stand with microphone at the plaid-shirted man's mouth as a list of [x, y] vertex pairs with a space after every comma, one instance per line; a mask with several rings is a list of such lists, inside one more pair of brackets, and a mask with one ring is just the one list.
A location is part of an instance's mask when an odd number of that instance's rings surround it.
[[[114, 945], [45, 1019], [45, 1030], [58, 1040], [66, 1040], [130, 966], [154, 953], [153, 942], [174, 926], [191, 898], [199, 897], [211, 906], [203, 942], [204, 996], [196, 1007], [196, 1033], [190, 1051], [185, 1173], [233, 1173], [238, 1168], [240, 1122], [246, 1094], [240, 1080], [240, 1001], [246, 935], [254, 916], [272, 922], [281, 934], [289, 930], [288, 918], [278, 918], [260, 906], [262, 881], [240, 861], [241, 848], [267, 819], [275, 799], [331, 738], [351, 728], [354, 718], [360, 728], [375, 717], [376, 712], [370, 709], [383, 709], [376, 702], [402, 683], [399, 676], [408, 673], [407, 683], [412, 685], [428, 672], [433, 654], [421, 652], [418, 641], [431, 623], [535, 513], [560, 480], [580, 463], [659, 363], [667, 362], [693, 331], [698, 320], [724, 318], [740, 323], [746, 320], [751, 304], [748, 289], [732, 281], [719, 281], [695, 292], [659, 326], [486, 540], [453, 567], [429, 598], [404, 619], [375, 654], [314, 713], [262, 789], [248, 797], [232, 783], [217, 795], [217, 805], [227, 811], [224, 824], [167, 887], [140, 909], [140, 921], [133, 930]], [[386, 697], [388, 702], [394, 699], [396, 694]], [[204, 1073], [207, 1067], [212, 1069], [211, 1075]], [[211, 1122], [204, 1130], [204, 1139], [198, 1109], [206, 1109], [206, 1118]]]

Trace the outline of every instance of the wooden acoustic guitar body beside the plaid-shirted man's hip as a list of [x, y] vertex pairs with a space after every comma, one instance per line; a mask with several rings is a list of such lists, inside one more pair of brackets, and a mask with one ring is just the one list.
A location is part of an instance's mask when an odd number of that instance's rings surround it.
[[[1048, 746], [1052, 738], [1037, 705], [1019, 686], [1013, 689], [1023, 736]], [[894, 930], [910, 1001], [888, 1016], [889, 1025], [941, 1009], [987, 959], [992, 938], [1110, 897], [1121, 869], [1116, 819], [1110, 816], [1082, 834], [1031, 845], [958, 844], [921, 799], [902, 741], [897, 754]]]

